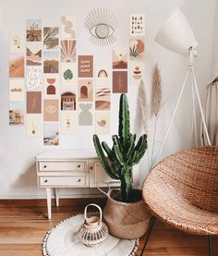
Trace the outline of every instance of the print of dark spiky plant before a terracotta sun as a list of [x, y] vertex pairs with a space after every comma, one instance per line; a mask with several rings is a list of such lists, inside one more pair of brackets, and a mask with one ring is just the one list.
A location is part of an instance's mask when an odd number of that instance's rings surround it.
[[145, 59], [145, 44], [142, 38], [130, 38], [129, 58], [130, 60]]

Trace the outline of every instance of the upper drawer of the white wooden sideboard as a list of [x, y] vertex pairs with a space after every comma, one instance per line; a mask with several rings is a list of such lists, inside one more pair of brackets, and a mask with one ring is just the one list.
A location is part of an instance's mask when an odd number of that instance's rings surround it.
[[86, 171], [86, 161], [42, 161], [40, 171]]

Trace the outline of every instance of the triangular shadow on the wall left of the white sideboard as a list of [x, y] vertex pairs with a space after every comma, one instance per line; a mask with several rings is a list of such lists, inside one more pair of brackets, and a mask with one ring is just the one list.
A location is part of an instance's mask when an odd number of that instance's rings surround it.
[[21, 174], [11, 186], [13, 189], [37, 189], [37, 175], [35, 163], [31, 163], [26, 172]]

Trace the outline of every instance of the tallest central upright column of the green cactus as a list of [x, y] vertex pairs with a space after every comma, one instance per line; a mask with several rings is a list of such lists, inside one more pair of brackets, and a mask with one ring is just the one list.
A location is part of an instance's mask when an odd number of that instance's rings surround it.
[[119, 130], [118, 134], [121, 139], [122, 146], [127, 147], [129, 140], [129, 110], [127, 103], [127, 95], [121, 94], [119, 102]]

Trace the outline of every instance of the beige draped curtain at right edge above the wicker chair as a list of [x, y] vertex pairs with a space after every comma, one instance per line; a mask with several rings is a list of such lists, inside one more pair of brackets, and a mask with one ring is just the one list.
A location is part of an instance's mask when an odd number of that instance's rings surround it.
[[[207, 86], [203, 111], [212, 145], [218, 145], [218, 77]], [[200, 143], [208, 145], [202, 120], [200, 121]]]

